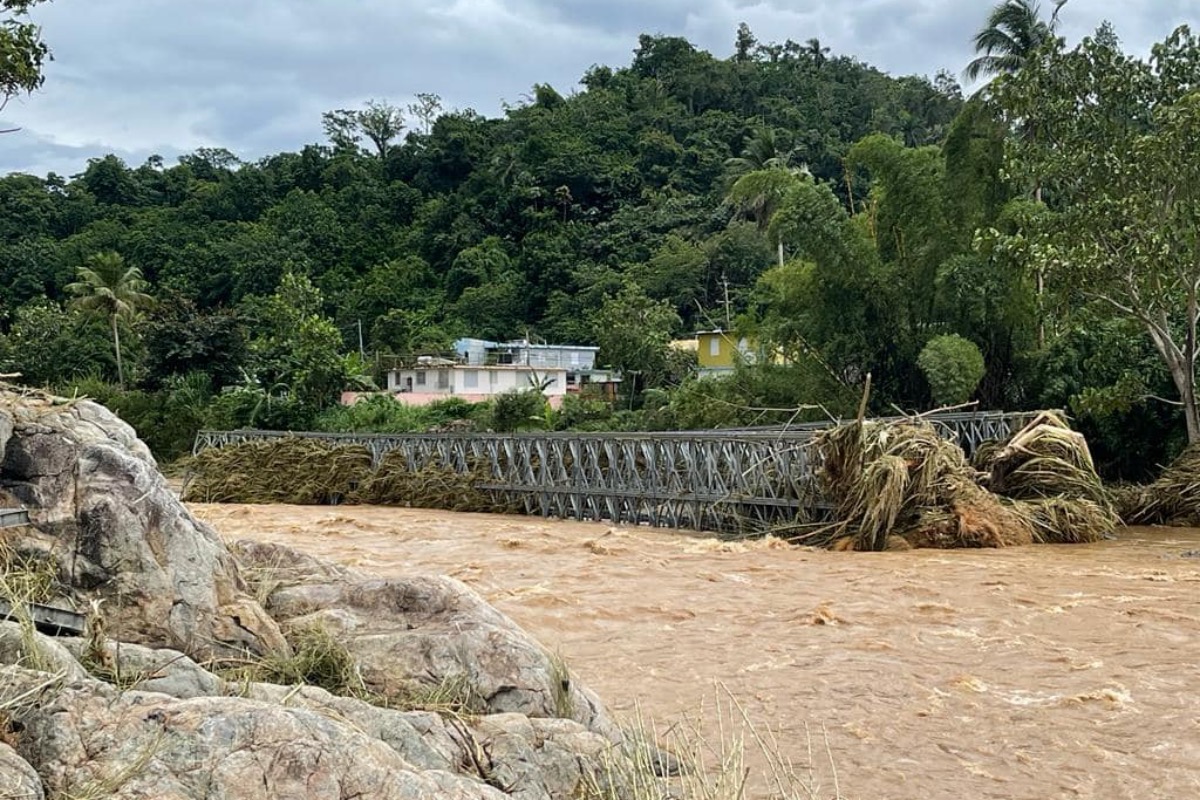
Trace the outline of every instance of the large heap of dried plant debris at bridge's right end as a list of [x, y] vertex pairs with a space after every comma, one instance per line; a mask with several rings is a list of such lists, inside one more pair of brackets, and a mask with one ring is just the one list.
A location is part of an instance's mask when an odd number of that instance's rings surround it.
[[1042, 414], [989, 449], [982, 469], [930, 422], [856, 421], [812, 444], [833, 522], [797, 539], [836, 549], [1086, 542], [1117, 517], [1087, 441]]

